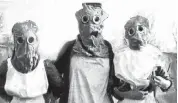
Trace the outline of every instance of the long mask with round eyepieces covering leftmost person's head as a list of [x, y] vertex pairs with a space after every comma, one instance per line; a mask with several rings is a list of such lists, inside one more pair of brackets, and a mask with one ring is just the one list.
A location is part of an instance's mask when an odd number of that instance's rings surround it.
[[32, 71], [38, 61], [38, 27], [33, 21], [16, 23], [12, 28], [14, 54], [12, 64], [22, 73]]

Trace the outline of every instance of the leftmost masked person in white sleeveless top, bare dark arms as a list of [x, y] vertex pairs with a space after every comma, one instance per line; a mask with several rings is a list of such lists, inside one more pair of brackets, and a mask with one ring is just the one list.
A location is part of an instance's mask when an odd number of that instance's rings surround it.
[[62, 86], [62, 77], [52, 62], [40, 58], [37, 33], [38, 26], [30, 20], [12, 28], [13, 55], [0, 66], [4, 79], [0, 90], [12, 97], [10, 103], [54, 103], [52, 90]]

